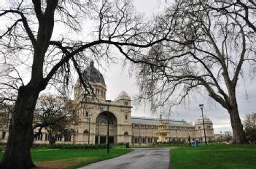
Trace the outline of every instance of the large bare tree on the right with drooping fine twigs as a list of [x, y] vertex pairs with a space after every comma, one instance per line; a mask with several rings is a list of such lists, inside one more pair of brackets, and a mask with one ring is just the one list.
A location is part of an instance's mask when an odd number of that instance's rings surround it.
[[176, 1], [161, 18], [161, 25], [174, 25], [170, 40], [130, 58], [141, 63], [133, 67], [138, 100], [149, 99], [152, 110], [158, 110], [206, 93], [228, 111], [233, 142], [245, 142], [236, 87], [244, 65], [255, 57], [255, 33], [238, 17], [193, 1]]

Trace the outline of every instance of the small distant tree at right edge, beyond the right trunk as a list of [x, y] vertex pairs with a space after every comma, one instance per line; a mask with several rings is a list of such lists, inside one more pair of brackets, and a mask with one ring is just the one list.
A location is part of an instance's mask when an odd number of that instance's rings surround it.
[[256, 112], [245, 115], [244, 129], [247, 140], [256, 141]]

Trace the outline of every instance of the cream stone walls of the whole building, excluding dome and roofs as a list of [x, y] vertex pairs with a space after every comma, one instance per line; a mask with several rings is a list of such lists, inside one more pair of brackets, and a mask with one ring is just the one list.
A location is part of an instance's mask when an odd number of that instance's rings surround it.
[[[102, 85], [101, 83], [92, 83], [93, 88], [99, 88], [100, 90], [105, 91], [106, 93], [106, 86]], [[82, 101], [82, 93], [84, 92], [81, 89], [79, 83], [75, 86], [75, 96], [74, 96], [74, 104], [81, 104]], [[158, 128], [136, 128], [133, 127], [131, 121], [131, 100], [127, 99], [120, 99], [119, 101], [112, 101], [108, 105], [105, 102], [105, 96], [99, 96], [98, 100], [92, 99], [90, 102], [83, 101], [81, 107], [79, 109], [78, 116], [79, 119], [77, 123], [69, 124], [69, 128], [72, 128], [75, 133], [71, 135], [71, 141], [66, 143], [75, 143], [75, 144], [86, 144], [88, 143], [88, 134], [85, 134], [84, 131], [89, 129], [89, 121], [88, 118], [85, 117], [85, 112], [88, 111], [90, 115], [90, 144], [95, 143], [95, 137], [99, 134], [102, 136], [106, 136], [106, 125], [96, 126], [96, 118], [101, 112], [112, 112], [113, 115], [117, 118], [117, 125], [109, 126], [109, 136], [115, 136], [115, 143], [132, 143], [132, 138], [139, 137], [139, 138], [157, 138], [157, 134], [155, 133], [158, 131]], [[125, 102], [128, 102], [128, 105], [125, 105]], [[127, 115], [127, 120], [125, 120], [125, 115]], [[205, 123], [206, 126], [210, 125], [211, 128], [206, 128], [206, 137], [214, 138], [214, 131], [212, 128], [212, 123]], [[141, 125], [141, 124], [137, 124]], [[150, 124], [149, 124], [150, 125]], [[198, 127], [201, 126], [201, 129]], [[189, 128], [189, 129], [188, 129]], [[182, 139], [183, 141], [187, 141], [187, 136], [191, 137], [191, 140], [199, 140], [201, 135], [203, 137], [202, 131], [202, 123], [195, 123], [195, 125], [169, 125], [168, 128], [165, 128], [165, 131], [168, 131], [167, 138], [171, 139]], [[36, 131], [34, 131], [36, 132]], [[128, 132], [128, 136], [124, 136], [124, 133]], [[201, 134], [202, 132], [202, 134]], [[43, 139], [42, 141], [34, 141], [36, 144], [48, 144], [48, 141], [45, 141], [45, 134], [47, 131], [43, 130]], [[0, 131], [1, 134], [1, 131]], [[8, 137], [8, 132], [6, 134], [6, 138]], [[213, 139], [212, 139], [213, 140]], [[7, 139], [1, 139], [0, 142], [6, 142]], [[56, 141], [57, 143], [62, 143], [63, 141]], [[154, 142], [154, 141], [153, 141]]]

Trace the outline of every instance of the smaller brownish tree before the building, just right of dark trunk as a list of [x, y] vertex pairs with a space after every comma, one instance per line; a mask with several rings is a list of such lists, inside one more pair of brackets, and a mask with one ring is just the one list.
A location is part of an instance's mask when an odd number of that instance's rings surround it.
[[34, 129], [38, 132], [34, 137], [42, 134], [42, 128], [49, 133], [49, 143], [54, 144], [57, 136], [69, 133], [69, 125], [77, 115], [77, 105], [71, 105], [69, 99], [53, 94], [42, 94], [36, 102], [34, 112]]

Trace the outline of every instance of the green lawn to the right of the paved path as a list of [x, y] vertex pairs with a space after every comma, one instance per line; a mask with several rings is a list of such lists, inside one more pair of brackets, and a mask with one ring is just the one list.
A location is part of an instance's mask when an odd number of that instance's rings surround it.
[[171, 149], [171, 169], [256, 169], [256, 145], [212, 144]]

